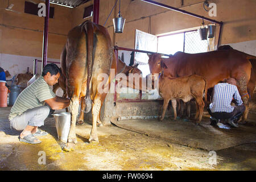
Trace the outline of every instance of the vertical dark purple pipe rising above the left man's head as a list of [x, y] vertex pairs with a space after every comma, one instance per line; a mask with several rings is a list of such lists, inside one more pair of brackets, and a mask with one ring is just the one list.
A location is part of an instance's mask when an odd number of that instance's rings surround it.
[[49, 0], [46, 0], [46, 17], [44, 17], [44, 38], [43, 38], [43, 56], [42, 71], [47, 64], [47, 47], [48, 47], [48, 23], [49, 23]]

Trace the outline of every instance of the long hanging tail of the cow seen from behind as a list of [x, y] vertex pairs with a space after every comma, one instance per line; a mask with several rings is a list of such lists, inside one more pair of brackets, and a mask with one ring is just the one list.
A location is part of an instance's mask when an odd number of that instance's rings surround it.
[[84, 24], [85, 36], [86, 36], [86, 63], [87, 63], [87, 80], [86, 80], [86, 94], [85, 94], [85, 113], [89, 113], [92, 109], [92, 100], [90, 98], [90, 81], [92, 80], [92, 69], [93, 69], [93, 61], [95, 55], [95, 44], [97, 39], [93, 34], [93, 24], [85, 23]]

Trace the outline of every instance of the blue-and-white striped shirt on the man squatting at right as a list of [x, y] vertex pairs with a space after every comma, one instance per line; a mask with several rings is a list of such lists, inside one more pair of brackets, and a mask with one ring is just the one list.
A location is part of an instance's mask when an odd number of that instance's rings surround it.
[[243, 101], [238, 92], [237, 86], [228, 83], [221, 83], [214, 86], [213, 101], [210, 104], [210, 111], [231, 113], [234, 106], [230, 105], [233, 98], [237, 105], [242, 105]]

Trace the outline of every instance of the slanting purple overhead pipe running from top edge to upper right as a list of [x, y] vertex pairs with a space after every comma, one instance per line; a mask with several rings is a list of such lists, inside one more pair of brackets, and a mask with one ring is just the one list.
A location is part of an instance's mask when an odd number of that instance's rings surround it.
[[216, 21], [214, 19], [206, 18], [204, 16], [197, 15], [197, 14], [194, 14], [194, 13], [190, 13], [190, 12], [185, 11], [185, 10], [180, 10], [180, 9], [177, 9], [176, 7], [164, 5], [163, 3], [159, 3], [159, 2], [155, 2], [155, 1], [151, 1], [151, 0], [141, 0], [141, 1], [148, 2], [148, 3], [151, 3], [153, 5], [160, 6], [160, 7], [165, 7], [167, 9], [174, 10], [174, 11], [177, 11], [177, 12], [180, 12], [180, 13], [184, 13], [184, 14], [187, 14], [187, 15], [195, 16], [196, 18], [208, 20], [209, 22], [213, 22], [213, 23], [217, 23], [217, 24], [223, 24], [223, 22], [218, 22], [218, 21]]

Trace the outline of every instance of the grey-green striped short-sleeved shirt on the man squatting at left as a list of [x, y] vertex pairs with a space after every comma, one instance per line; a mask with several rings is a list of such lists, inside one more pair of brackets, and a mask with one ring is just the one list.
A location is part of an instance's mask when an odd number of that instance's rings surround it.
[[45, 100], [54, 98], [55, 96], [55, 93], [44, 80], [43, 76], [40, 76], [38, 80], [34, 81], [19, 94], [13, 107], [11, 107], [9, 121], [28, 109], [43, 106]]

